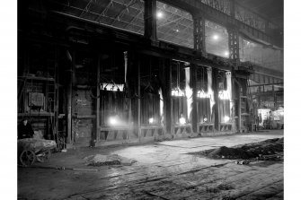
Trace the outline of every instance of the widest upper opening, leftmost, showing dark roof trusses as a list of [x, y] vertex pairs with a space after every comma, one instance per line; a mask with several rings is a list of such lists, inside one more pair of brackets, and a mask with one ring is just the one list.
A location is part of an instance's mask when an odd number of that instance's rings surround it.
[[143, 0], [62, 1], [58, 12], [91, 22], [144, 34]]

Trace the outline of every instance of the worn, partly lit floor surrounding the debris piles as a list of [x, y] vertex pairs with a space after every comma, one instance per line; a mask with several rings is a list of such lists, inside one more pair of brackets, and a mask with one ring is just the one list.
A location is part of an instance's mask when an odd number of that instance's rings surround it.
[[[18, 168], [18, 197], [68, 200], [283, 199], [283, 161], [236, 165], [230, 160], [187, 154], [279, 137], [283, 137], [283, 130], [54, 153], [48, 163]], [[119, 154], [137, 162], [132, 166], [85, 166], [83, 158], [96, 153]]]

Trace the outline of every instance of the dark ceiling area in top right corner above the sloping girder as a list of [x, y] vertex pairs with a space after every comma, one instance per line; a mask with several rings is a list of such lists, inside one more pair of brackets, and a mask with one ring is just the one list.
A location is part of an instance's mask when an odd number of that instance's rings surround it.
[[271, 22], [283, 28], [283, 0], [236, 0], [236, 2], [266, 16]]

